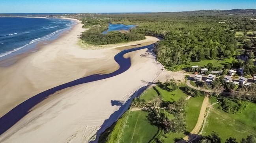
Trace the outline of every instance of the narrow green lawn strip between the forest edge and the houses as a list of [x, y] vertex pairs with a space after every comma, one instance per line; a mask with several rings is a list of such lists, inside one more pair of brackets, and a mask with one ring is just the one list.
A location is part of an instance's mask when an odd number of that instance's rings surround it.
[[215, 60], [202, 60], [200, 62], [191, 62], [190, 65], [198, 65], [199, 67], [205, 67], [207, 65], [207, 63], [213, 63], [213, 65], [215, 66], [222, 66], [224, 64], [227, 64], [227, 63], [231, 63], [233, 60], [235, 60], [234, 58], [226, 58], [226, 59], [220, 59], [220, 58], [217, 58]]

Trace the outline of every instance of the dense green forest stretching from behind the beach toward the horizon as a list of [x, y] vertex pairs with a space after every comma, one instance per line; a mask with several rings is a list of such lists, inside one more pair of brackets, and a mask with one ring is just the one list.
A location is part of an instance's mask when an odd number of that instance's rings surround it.
[[[248, 16], [224, 14], [84, 14], [81, 19], [84, 27], [90, 27], [81, 38], [93, 45], [142, 40], [143, 35], [163, 38], [155, 52], [157, 60], [166, 68], [205, 59], [230, 58], [238, 48], [235, 30], [254, 31], [256, 27], [256, 21]], [[101, 34], [108, 23], [138, 27], [129, 33]]]

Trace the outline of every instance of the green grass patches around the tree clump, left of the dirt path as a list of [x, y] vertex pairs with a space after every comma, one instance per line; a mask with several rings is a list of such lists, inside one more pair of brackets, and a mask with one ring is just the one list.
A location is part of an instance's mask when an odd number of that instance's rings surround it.
[[[163, 101], [173, 102], [178, 101], [181, 97], [186, 98], [187, 94], [181, 89], [168, 92], [156, 86], [155, 88], [146, 90], [140, 99], [150, 102], [157, 96], [161, 96]], [[197, 97], [190, 98], [187, 101], [186, 122], [188, 131], [191, 131], [197, 122], [203, 100], [204, 97]], [[151, 125], [147, 118], [148, 112], [146, 111], [138, 110], [125, 112], [123, 117], [116, 123], [112, 133], [108, 136], [108, 143], [116, 142], [118, 138], [119, 142], [123, 143], [148, 143], [154, 138], [161, 138], [161, 141], [164, 143], [173, 143], [175, 139], [185, 136], [183, 132], [179, 134], [169, 133], [163, 136], [163, 131]], [[120, 133], [122, 134], [121, 136]]]

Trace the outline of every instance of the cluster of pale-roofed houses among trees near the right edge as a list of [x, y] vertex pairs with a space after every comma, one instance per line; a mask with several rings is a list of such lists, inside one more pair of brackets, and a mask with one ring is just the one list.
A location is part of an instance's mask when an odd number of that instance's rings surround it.
[[[195, 65], [195, 66], [192, 66], [192, 68], [199, 68], [198, 65]], [[198, 75], [196, 74], [194, 76], [194, 80], [195, 81], [202, 81], [203, 80], [203, 75], [208, 71], [208, 69], [206, 68], [203, 68], [203, 69], [200, 69], [200, 73], [202, 75]], [[234, 80], [232, 78], [232, 76], [234, 76], [236, 73], [239, 73], [239, 75], [243, 75], [243, 69], [238, 69], [237, 71], [234, 71], [233, 69], [229, 70], [228, 71], [228, 76], [225, 76], [224, 80], [226, 82], [232, 82], [234, 84], [237, 84], [237, 85], [250, 85], [251, 83], [247, 82], [247, 78], [243, 77], [243, 76], [240, 76], [239, 77], [239, 80]], [[222, 74], [222, 71], [211, 71], [210, 74], [208, 74], [208, 76], [205, 76], [206, 80], [205, 82], [207, 84], [211, 84], [211, 82], [213, 80], [215, 80], [215, 78], [217, 77], [217, 75], [220, 75]], [[253, 76], [253, 81], [254, 83], [256, 83], [256, 75]]]

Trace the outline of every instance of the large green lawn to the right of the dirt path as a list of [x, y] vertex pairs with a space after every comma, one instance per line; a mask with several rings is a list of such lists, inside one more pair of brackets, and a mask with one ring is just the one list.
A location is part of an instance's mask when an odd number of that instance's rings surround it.
[[215, 106], [209, 114], [203, 135], [209, 135], [212, 131], [219, 134], [222, 142], [229, 137], [240, 141], [248, 135], [256, 136], [256, 104], [249, 103], [245, 111], [237, 114], [226, 113]]

